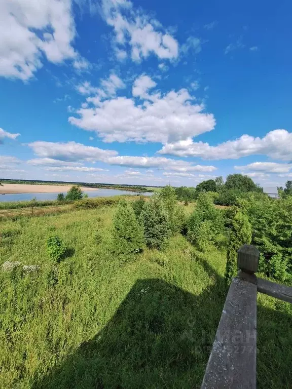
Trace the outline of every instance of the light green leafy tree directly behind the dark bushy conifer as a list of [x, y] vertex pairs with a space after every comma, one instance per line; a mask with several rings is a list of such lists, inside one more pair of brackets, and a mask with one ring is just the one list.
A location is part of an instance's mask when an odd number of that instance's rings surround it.
[[170, 185], [164, 186], [159, 193], [159, 199], [165, 209], [171, 233], [181, 231], [185, 223], [185, 212], [177, 203], [174, 188]]

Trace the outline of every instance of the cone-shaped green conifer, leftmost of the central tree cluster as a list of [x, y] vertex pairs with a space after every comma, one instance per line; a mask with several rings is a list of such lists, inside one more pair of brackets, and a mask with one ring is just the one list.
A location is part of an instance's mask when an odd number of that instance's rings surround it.
[[132, 254], [141, 251], [143, 246], [143, 229], [133, 208], [122, 200], [114, 216], [113, 251], [117, 254]]

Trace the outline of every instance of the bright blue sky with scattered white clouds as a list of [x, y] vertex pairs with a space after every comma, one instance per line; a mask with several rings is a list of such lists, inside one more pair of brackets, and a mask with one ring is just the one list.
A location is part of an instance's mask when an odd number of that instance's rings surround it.
[[3, 0], [0, 177], [292, 177], [292, 4]]

